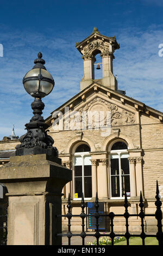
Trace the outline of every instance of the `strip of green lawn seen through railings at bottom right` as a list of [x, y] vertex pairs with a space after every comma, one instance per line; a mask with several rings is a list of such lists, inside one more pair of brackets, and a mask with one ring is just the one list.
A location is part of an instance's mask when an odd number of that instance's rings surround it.
[[[127, 245], [126, 241], [115, 243], [115, 245]], [[142, 245], [142, 239], [140, 237], [130, 237], [129, 245]], [[146, 237], [145, 245], [159, 245], [158, 240], [155, 237]]]

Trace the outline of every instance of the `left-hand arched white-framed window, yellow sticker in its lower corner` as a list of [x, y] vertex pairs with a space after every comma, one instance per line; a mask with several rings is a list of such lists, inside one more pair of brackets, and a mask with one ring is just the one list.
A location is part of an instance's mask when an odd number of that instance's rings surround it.
[[80, 144], [75, 150], [73, 160], [73, 198], [92, 197], [92, 167], [90, 147]]

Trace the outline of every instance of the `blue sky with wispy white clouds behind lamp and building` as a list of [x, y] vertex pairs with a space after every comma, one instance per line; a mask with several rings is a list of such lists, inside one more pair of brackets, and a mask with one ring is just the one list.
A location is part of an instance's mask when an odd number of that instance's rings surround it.
[[39, 51], [55, 87], [43, 98], [43, 117], [80, 91], [83, 60], [75, 47], [97, 27], [116, 35], [114, 74], [126, 95], [163, 111], [163, 0], [11, 1], [1, 3], [0, 140], [21, 136], [32, 117], [33, 98], [22, 78], [32, 69]]

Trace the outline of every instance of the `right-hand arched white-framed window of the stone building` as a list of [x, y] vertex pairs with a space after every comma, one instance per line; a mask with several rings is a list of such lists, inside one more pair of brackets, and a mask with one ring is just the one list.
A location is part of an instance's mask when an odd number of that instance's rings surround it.
[[115, 142], [110, 151], [111, 198], [130, 197], [130, 172], [126, 143]]

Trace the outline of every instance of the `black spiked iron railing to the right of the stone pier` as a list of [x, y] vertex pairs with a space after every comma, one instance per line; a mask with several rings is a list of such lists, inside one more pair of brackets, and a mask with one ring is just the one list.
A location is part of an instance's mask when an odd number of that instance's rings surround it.
[[[82, 212], [79, 215], [72, 215], [71, 214], [71, 200], [70, 200], [70, 194], [68, 196], [68, 204], [67, 204], [67, 209], [68, 212], [66, 215], [57, 215], [57, 217], [66, 217], [68, 219], [68, 231], [66, 234], [57, 234], [57, 236], [67, 236], [68, 238], [68, 245], [71, 245], [71, 238], [73, 236], [79, 236], [82, 237], [82, 245], [85, 245], [85, 237], [86, 236], [94, 236], [96, 237], [97, 240], [97, 246], [99, 245], [99, 238], [103, 237], [103, 236], [108, 236], [111, 239], [111, 245], [114, 245], [114, 238], [116, 236], [124, 236], [126, 237], [127, 240], [127, 245], [129, 245], [129, 239], [130, 237], [141, 237], [142, 239], [142, 245], [145, 246], [145, 239], [146, 237], [156, 237], [156, 239], [158, 240], [159, 246], [163, 245], [163, 233], [162, 233], [162, 211], [161, 211], [161, 201], [160, 201], [160, 194], [159, 194], [159, 186], [158, 186], [158, 181], [156, 182], [156, 196], [155, 196], [155, 206], [156, 206], [156, 211], [155, 214], [145, 214], [143, 208], [144, 208], [144, 204], [143, 204], [143, 198], [142, 198], [142, 193], [140, 193], [140, 213], [139, 214], [129, 214], [128, 212], [128, 199], [127, 199], [127, 194], [125, 193], [125, 199], [124, 199], [124, 214], [114, 214], [114, 212], [110, 212], [109, 214], [99, 214], [98, 209], [99, 209], [99, 201], [98, 201], [98, 194], [96, 193], [96, 202], [95, 202], [95, 214], [92, 214], [92, 217], [96, 218], [96, 231], [95, 234], [89, 234], [85, 232], [85, 218], [86, 217], [90, 217], [90, 215], [85, 214], [85, 202], [84, 202], [84, 196], [82, 196], [82, 203], [81, 203], [81, 208], [82, 208]], [[140, 217], [141, 219], [141, 234], [130, 234], [129, 233], [129, 217], [132, 216], [136, 216], [136, 217]], [[146, 216], [153, 216], [156, 218], [157, 220], [157, 227], [158, 227], [158, 231], [156, 234], [146, 234], [145, 233], [145, 224], [144, 224], [144, 218]], [[80, 217], [82, 218], [82, 232], [80, 234], [73, 234], [71, 232], [71, 218], [72, 217]], [[110, 219], [110, 234], [102, 234], [99, 231], [99, 217], [108, 217]], [[126, 219], [126, 233], [124, 234], [116, 234], [114, 232], [114, 218], [115, 217], [124, 217]]]

